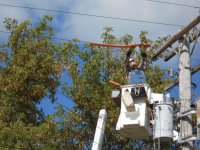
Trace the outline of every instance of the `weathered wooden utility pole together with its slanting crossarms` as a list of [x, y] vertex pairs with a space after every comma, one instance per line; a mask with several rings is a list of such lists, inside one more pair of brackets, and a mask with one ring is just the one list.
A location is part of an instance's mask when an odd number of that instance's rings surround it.
[[[176, 41], [179, 41], [179, 48], [168, 53], [165, 61], [168, 61], [172, 58], [176, 52], [179, 52], [179, 98], [181, 102], [180, 108], [180, 133], [177, 143], [180, 144], [180, 149], [182, 150], [191, 150], [193, 149], [193, 141], [197, 139], [192, 134], [192, 116], [196, 111], [191, 109], [191, 64], [190, 64], [190, 43], [194, 39], [199, 37], [199, 32], [195, 33], [192, 36], [192, 39], [189, 39], [187, 35], [189, 31], [200, 23], [200, 15], [195, 18], [191, 23], [181, 29], [177, 34], [175, 34], [164, 46], [154, 52], [152, 58], [158, 57], [162, 52], [167, 48], [171, 47]], [[187, 35], [187, 36], [185, 36]], [[199, 70], [199, 69], [198, 69]], [[195, 73], [195, 72], [194, 72]], [[173, 87], [176, 83], [168, 86], [169, 88]], [[168, 88], [168, 89], [169, 89]], [[166, 88], [165, 88], [166, 89]]]

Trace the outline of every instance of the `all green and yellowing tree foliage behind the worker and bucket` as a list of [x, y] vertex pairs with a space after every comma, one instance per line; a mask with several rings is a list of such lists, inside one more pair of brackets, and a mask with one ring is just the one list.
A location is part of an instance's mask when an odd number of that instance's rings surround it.
[[[111, 90], [119, 88], [109, 80], [126, 84], [125, 49], [111, 49], [78, 40], [55, 44], [49, 16], [33, 27], [30, 21], [18, 23], [6, 19], [11, 32], [8, 42], [1, 45], [0, 68], [0, 147], [3, 149], [90, 149], [99, 110], [108, 111], [103, 149], [150, 149], [152, 141], [125, 139], [115, 131], [119, 108], [111, 99]], [[116, 38], [111, 27], [104, 28], [104, 43], [129, 44], [132, 35]], [[152, 43], [148, 57], [163, 39], [151, 41], [141, 32], [141, 42]], [[133, 54], [141, 61], [140, 52]], [[164, 72], [148, 60], [147, 81], [154, 92], [163, 92], [170, 82]], [[65, 74], [66, 83], [60, 82]], [[57, 108], [57, 113], [45, 117], [36, 105], [44, 97], [55, 101], [56, 88], [75, 102], [71, 111]], [[56, 122], [54, 121], [57, 118]]]

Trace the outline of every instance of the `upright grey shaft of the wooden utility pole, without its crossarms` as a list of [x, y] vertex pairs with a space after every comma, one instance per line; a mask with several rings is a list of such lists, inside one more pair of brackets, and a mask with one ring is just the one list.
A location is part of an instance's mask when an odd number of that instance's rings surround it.
[[[191, 64], [190, 47], [186, 37], [179, 40], [179, 98], [181, 101], [181, 114], [191, 109]], [[192, 116], [188, 115], [180, 120], [180, 138], [187, 139], [192, 135]], [[193, 142], [188, 141], [182, 144], [182, 150], [191, 150]]]

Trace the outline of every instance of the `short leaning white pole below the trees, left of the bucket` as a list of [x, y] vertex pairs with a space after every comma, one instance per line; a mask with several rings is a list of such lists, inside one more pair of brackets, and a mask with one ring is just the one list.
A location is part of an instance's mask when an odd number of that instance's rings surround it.
[[97, 127], [94, 136], [94, 142], [92, 150], [101, 150], [102, 142], [106, 127], [107, 112], [105, 109], [101, 109], [99, 112], [99, 119], [97, 121]]

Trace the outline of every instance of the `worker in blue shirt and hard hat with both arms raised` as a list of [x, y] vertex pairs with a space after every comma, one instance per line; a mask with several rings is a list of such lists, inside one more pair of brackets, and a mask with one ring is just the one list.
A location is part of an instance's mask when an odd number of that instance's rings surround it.
[[142, 52], [142, 62], [138, 66], [135, 58], [131, 57], [133, 49], [130, 48], [126, 53], [125, 67], [126, 75], [128, 77], [128, 84], [142, 84], [146, 83], [144, 71], [146, 70], [146, 53]]

